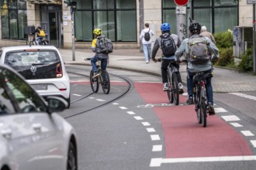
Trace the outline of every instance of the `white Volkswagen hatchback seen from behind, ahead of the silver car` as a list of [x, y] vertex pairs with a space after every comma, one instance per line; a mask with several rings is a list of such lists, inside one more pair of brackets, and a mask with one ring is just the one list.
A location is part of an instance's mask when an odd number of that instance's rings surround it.
[[41, 96], [63, 97], [70, 107], [70, 80], [55, 46], [2, 47], [0, 63], [18, 71]]

